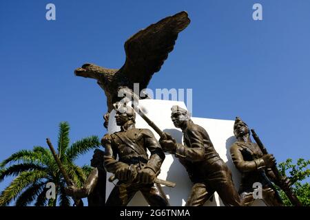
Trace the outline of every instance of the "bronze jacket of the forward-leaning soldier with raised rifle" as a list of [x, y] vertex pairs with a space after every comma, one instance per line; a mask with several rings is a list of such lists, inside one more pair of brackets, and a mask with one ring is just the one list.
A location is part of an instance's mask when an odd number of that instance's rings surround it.
[[218, 178], [215, 175], [211, 176], [212, 173], [214, 174], [214, 170], [218, 171], [214, 164], [221, 166], [225, 163], [214, 149], [207, 131], [189, 120], [183, 135], [184, 146], [176, 144], [176, 157], [187, 169], [189, 178], [193, 182], [205, 179], [211, 181], [213, 178]]

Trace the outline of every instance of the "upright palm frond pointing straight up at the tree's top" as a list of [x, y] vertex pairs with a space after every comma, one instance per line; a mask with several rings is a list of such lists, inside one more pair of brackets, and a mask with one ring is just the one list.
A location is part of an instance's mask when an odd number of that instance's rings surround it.
[[60, 159], [62, 159], [63, 153], [65, 153], [65, 150], [68, 148], [69, 143], [70, 143], [69, 131], [70, 131], [70, 126], [68, 122], [61, 122], [59, 124], [57, 150], [58, 150], [58, 156]]

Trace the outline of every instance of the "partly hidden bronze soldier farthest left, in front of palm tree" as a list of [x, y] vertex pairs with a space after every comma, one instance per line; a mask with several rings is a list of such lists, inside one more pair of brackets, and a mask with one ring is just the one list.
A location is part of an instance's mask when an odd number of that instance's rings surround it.
[[107, 173], [103, 166], [104, 152], [96, 149], [90, 161], [94, 167], [82, 188], [68, 186], [65, 193], [76, 199], [87, 197], [88, 206], [105, 206], [105, 184]]

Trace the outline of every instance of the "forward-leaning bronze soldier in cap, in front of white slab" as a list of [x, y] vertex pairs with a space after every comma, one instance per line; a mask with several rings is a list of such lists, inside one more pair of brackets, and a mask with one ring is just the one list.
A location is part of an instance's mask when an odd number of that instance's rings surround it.
[[178, 106], [172, 107], [171, 118], [174, 126], [183, 131], [184, 145], [177, 144], [168, 133], [167, 139], [159, 142], [165, 151], [178, 157], [194, 184], [186, 206], [203, 206], [214, 192], [218, 192], [225, 206], [240, 206], [231, 171], [214, 149], [207, 131], [194, 124], [189, 113]]

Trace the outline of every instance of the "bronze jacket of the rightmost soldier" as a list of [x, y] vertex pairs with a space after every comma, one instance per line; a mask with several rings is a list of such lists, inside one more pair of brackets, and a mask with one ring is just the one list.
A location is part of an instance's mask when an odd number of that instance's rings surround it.
[[271, 168], [266, 168], [260, 147], [251, 142], [235, 142], [230, 148], [231, 159], [236, 168], [242, 173], [240, 192], [253, 191], [253, 184], [259, 182], [263, 188], [268, 187], [267, 181], [262, 176], [265, 170], [267, 177], [274, 180]]

